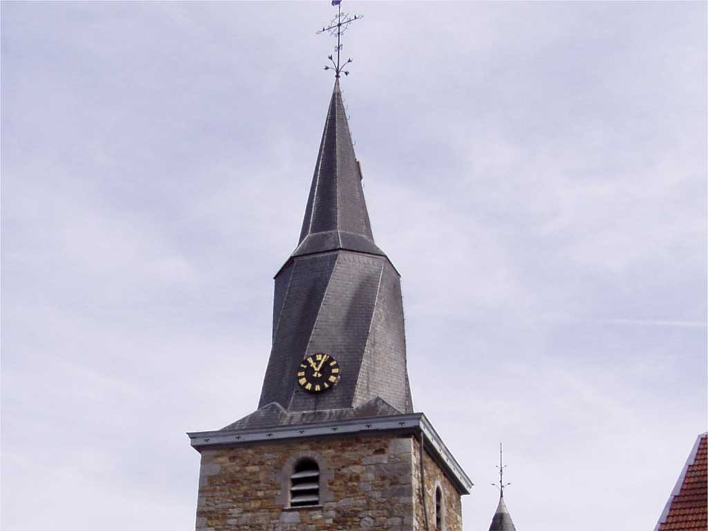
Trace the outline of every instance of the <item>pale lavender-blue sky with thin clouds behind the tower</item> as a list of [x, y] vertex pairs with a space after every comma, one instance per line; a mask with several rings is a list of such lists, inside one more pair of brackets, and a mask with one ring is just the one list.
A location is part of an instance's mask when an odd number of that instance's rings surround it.
[[[651, 530], [707, 406], [705, 2], [345, 2], [413, 404], [520, 530]], [[193, 530], [256, 408], [329, 2], [1, 4], [7, 531]]]

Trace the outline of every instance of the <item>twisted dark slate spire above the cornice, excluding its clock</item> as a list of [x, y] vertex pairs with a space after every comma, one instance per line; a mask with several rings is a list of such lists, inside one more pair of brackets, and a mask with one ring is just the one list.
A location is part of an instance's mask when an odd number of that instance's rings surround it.
[[[299, 244], [275, 275], [258, 411], [229, 429], [413, 412], [401, 279], [374, 243], [361, 181], [336, 81]], [[317, 353], [337, 360], [341, 376], [314, 394], [297, 372]]]

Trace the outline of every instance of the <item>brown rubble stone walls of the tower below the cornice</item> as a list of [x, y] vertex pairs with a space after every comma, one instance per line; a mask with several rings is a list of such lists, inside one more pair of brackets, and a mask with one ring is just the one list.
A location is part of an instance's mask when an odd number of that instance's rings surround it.
[[[197, 531], [426, 531], [418, 441], [413, 435], [330, 436], [202, 450]], [[289, 508], [299, 457], [320, 465], [319, 506]], [[461, 531], [459, 493], [425, 452], [426, 505], [435, 531], [435, 486], [443, 531]]]

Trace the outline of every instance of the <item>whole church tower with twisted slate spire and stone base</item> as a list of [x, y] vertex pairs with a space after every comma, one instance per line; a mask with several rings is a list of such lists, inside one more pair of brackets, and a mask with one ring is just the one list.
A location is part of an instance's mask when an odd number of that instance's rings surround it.
[[299, 240], [275, 275], [258, 409], [188, 434], [197, 531], [462, 530], [472, 481], [413, 412], [400, 275], [374, 241], [332, 69]]

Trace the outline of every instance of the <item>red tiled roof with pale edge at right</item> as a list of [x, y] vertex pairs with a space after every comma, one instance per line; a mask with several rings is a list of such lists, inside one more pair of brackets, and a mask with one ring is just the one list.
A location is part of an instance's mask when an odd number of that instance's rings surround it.
[[698, 436], [655, 531], [708, 531], [708, 433]]

